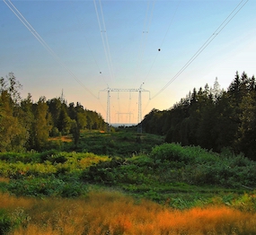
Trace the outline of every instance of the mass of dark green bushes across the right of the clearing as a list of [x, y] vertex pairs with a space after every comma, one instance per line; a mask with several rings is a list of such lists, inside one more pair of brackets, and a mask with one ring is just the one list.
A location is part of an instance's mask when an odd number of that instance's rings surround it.
[[105, 185], [176, 184], [253, 188], [256, 163], [242, 154], [217, 154], [199, 146], [162, 144], [147, 155], [100, 161], [82, 173], [85, 181]]

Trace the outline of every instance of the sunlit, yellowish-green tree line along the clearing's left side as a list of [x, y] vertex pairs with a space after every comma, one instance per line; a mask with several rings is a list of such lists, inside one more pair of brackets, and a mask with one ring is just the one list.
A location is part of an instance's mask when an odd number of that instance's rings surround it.
[[13, 73], [0, 79], [0, 152], [40, 151], [50, 136], [68, 134], [77, 144], [80, 130], [105, 129], [102, 116], [79, 102], [67, 105], [62, 97], [34, 102], [30, 93], [21, 98], [21, 88]]

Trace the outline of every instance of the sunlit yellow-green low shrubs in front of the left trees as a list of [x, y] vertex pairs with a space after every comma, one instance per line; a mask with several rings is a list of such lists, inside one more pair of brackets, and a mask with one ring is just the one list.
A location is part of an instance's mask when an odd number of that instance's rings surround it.
[[90, 152], [27, 152], [0, 153], [0, 175], [5, 178], [34, 178], [56, 175], [77, 175], [99, 161], [108, 161], [105, 156]]

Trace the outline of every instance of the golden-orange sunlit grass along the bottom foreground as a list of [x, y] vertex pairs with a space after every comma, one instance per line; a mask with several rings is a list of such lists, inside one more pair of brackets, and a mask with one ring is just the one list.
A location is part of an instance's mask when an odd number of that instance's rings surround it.
[[8, 211], [20, 207], [27, 226], [11, 232], [31, 234], [255, 234], [256, 214], [225, 206], [173, 210], [116, 192], [92, 192], [79, 199], [31, 199], [0, 195]]

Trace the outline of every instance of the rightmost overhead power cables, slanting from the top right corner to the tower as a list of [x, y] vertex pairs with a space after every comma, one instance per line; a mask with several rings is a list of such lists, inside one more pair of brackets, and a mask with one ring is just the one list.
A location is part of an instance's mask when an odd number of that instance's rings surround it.
[[205, 48], [207, 48], [207, 46], [216, 38], [216, 36], [222, 31], [224, 30], [225, 26], [232, 21], [232, 19], [234, 18], [234, 16], [239, 13], [241, 11], [241, 9], [243, 8], [243, 6], [245, 4], [247, 4], [249, 2], [249, 0], [246, 0], [244, 2], [244, 0], [242, 0], [239, 4], [237, 4], [237, 6], [234, 8], [233, 12], [230, 13], [226, 18], [225, 21], [222, 22], [220, 24], [220, 26], [214, 31], [214, 33], [207, 39], [207, 41], [201, 46], [201, 48], [199, 48], [199, 50], [193, 55], [193, 57], [190, 58], [190, 60], [181, 68], [181, 70], [175, 74], [172, 79], [166, 83], [163, 88], [158, 91], [153, 97], [152, 99], [154, 99], [156, 96], [158, 96], [160, 93], [162, 93], [173, 81], [175, 81], [183, 72], [184, 70], [197, 58], [199, 57], [199, 55], [204, 51]]

